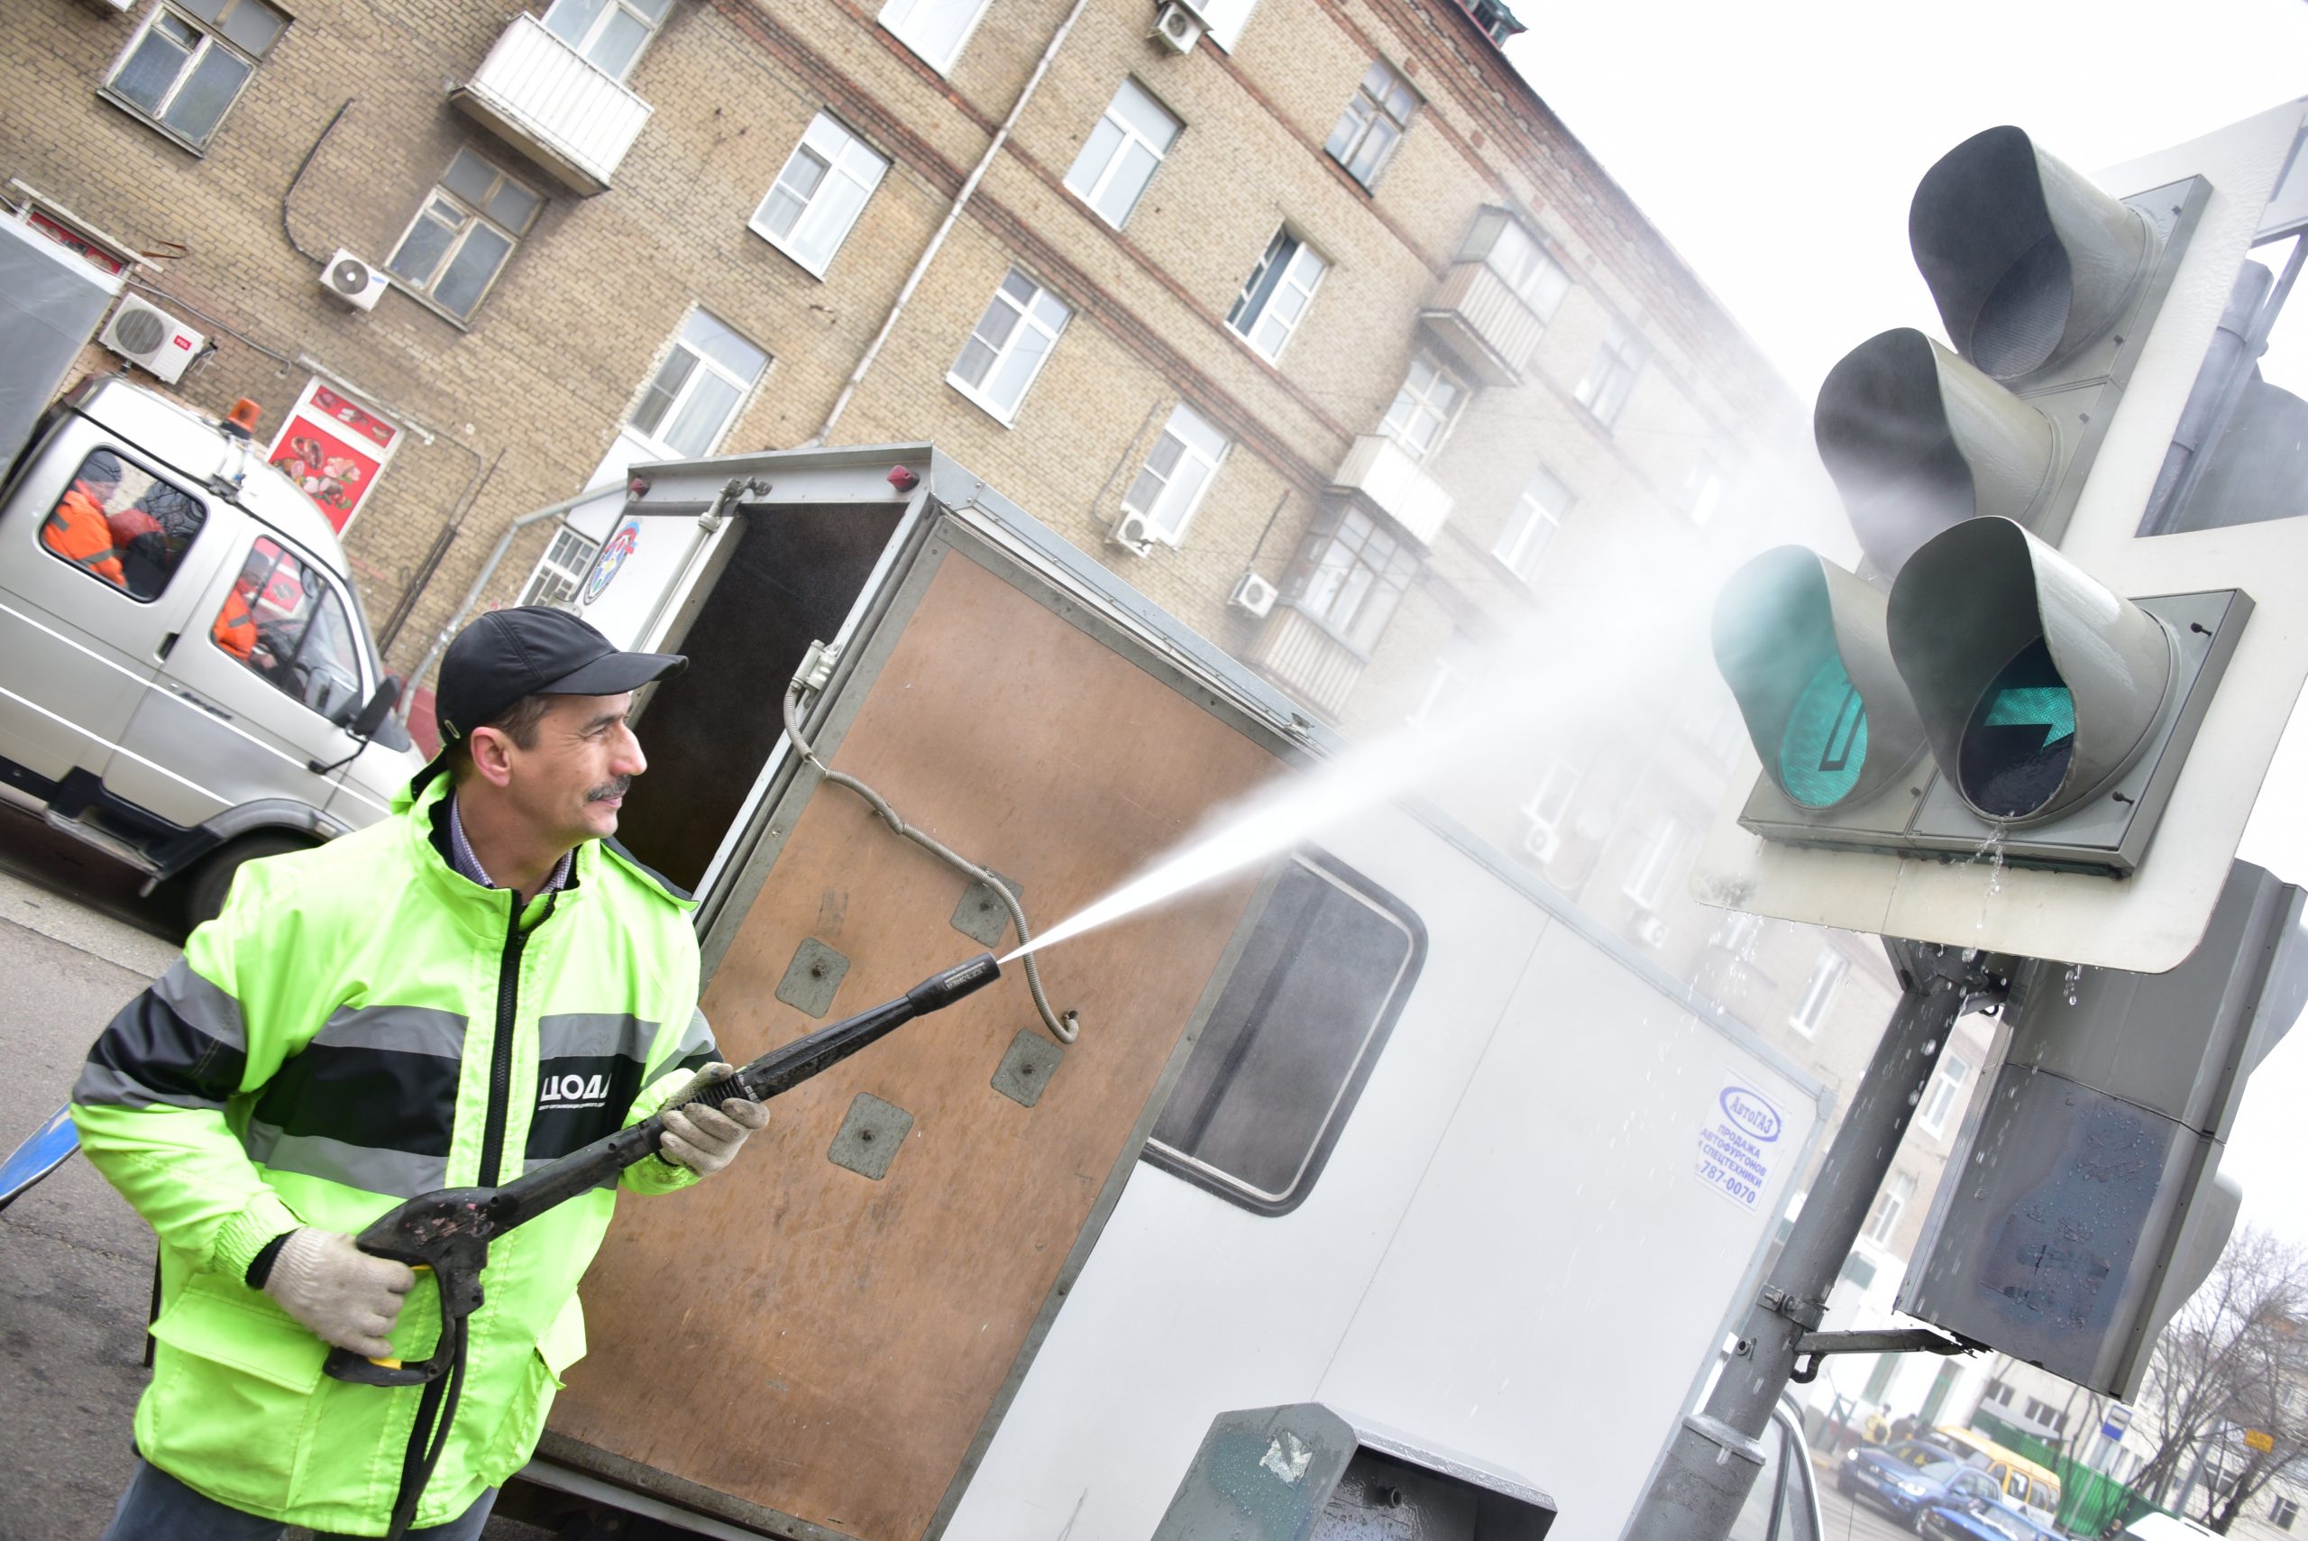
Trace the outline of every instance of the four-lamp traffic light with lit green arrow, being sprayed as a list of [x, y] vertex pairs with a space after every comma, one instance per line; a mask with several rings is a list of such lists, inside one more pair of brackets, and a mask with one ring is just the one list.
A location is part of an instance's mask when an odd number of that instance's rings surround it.
[[1740, 826], [2137, 870], [2253, 604], [2128, 600], [2054, 542], [2206, 201], [2202, 178], [2114, 198], [2013, 127], [1925, 173], [1909, 245], [1953, 348], [1872, 337], [1812, 418], [1874, 586], [1784, 547], [1717, 602], [1763, 761]]

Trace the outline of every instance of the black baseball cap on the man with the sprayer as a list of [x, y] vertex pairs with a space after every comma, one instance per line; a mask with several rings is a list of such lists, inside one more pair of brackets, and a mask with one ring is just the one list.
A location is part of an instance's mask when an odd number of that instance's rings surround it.
[[563, 609], [492, 609], [448, 644], [434, 717], [448, 745], [522, 697], [616, 697], [688, 667], [679, 653], [619, 653]]

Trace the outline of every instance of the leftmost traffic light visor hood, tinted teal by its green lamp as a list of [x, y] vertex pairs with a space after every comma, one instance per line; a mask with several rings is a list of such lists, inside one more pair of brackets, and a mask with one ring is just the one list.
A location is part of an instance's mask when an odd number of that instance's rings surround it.
[[1923, 750], [1883, 595], [1814, 551], [1777, 547], [1731, 574], [1715, 602], [1715, 667], [1763, 775], [1796, 807], [1865, 800]]

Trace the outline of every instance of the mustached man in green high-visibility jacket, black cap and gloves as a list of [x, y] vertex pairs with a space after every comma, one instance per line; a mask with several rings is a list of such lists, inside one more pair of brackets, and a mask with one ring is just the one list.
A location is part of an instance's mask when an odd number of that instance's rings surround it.
[[[595, 1190], [492, 1246], [464, 1393], [425, 1472], [420, 1389], [321, 1373], [330, 1345], [425, 1359], [432, 1283], [353, 1246], [392, 1204], [494, 1186], [649, 1117], [718, 1050], [690, 900], [614, 840], [646, 768], [625, 717], [676, 655], [554, 609], [450, 644], [441, 754], [395, 817], [249, 863], [185, 957], [97, 1038], [81, 1149], [159, 1234], [152, 1384], [115, 1541], [480, 1534], [584, 1354]], [[665, 1117], [621, 1186], [672, 1193], [769, 1121]]]

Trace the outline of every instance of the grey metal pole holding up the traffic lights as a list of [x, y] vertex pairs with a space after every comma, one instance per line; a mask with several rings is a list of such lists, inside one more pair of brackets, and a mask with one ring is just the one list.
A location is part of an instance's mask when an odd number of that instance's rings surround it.
[[1623, 1541], [1724, 1541], [1731, 1534], [1763, 1465], [1770, 1410], [1803, 1356], [1798, 1343], [1826, 1315], [1828, 1290], [1858, 1241], [1948, 1031], [1969, 1006], [1999, 999], [2010, 978], [2003, 957], [1893, 939], [1883, 946], [1899, 971], [1899, 1008], [1747, 1313], [1733, 1356], [1715, 1377], [1706, 1407], [1676, 1428]]

